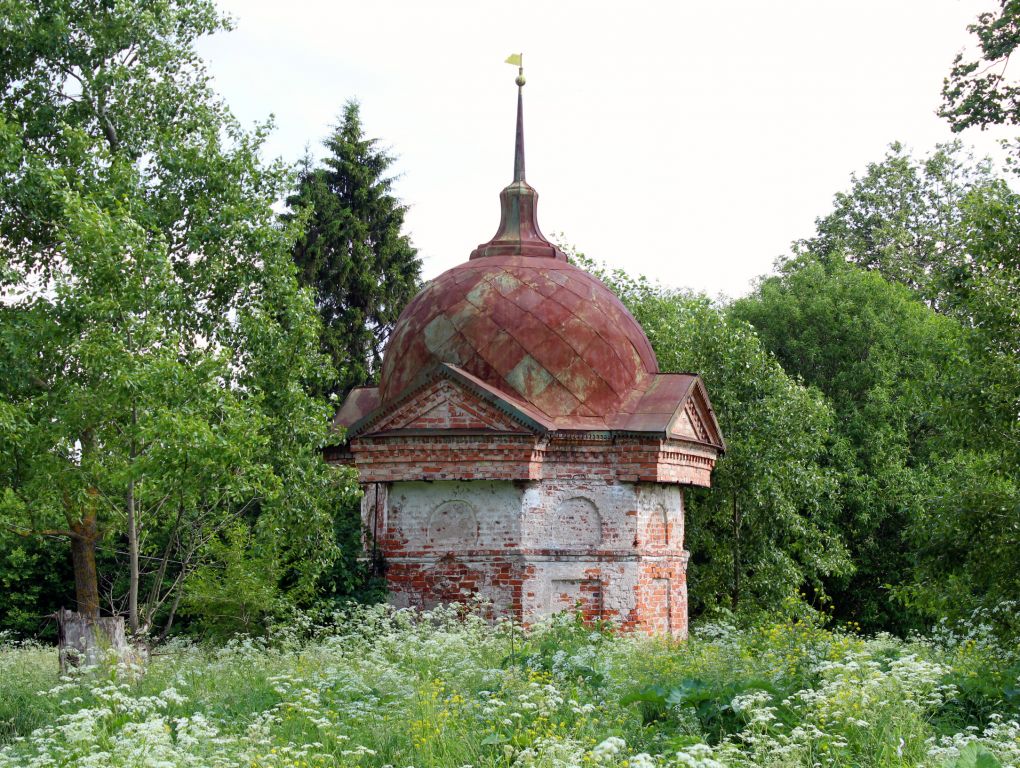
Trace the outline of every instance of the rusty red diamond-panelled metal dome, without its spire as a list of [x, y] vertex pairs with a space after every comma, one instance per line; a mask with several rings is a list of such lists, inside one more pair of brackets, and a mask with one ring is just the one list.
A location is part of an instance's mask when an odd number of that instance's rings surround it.
[[605, 417], [658, 371], [638, 321], [588, 272], [559, 258], [477, 254], [397, 320], [382, 403], [446, 362], [553, 418]]

